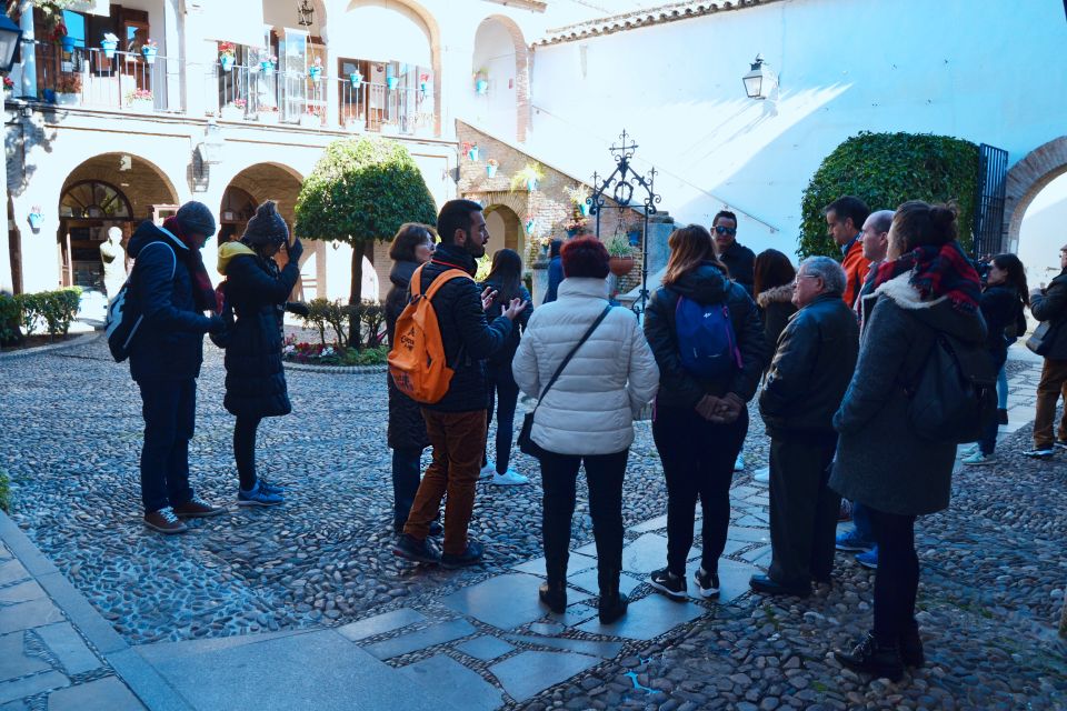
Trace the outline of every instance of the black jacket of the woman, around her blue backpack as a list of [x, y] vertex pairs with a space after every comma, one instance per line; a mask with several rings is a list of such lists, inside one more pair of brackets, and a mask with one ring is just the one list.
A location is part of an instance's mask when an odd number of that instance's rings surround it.
[[[741, 351], [741, 370], [728, 379], [716, 381], [698, 379], [681, 367], [675, 332], [675, 309], [679, 296], [704, 306], [725, 302], [729, 307], [730, 322]], [[748, 402], [756, 394], [767, 361], [764, 326], [745, 288], [727, 279], [715, 264], [706, 262], [669, 288], [660, 287], [652, 293], [645, 312], [645, 337], [659, 365], [657, 405], [695, 408], [706, 394], [721, 397], [728, 392]]]

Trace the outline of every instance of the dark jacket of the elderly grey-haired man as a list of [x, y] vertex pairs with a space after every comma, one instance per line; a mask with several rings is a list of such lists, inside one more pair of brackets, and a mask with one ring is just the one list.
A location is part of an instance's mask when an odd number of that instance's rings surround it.
[[834, 435], [859, 354], [859, 324], [840, 293], [824, 293], [789, 319], [778, 340], [759, 412], [771, 437]]

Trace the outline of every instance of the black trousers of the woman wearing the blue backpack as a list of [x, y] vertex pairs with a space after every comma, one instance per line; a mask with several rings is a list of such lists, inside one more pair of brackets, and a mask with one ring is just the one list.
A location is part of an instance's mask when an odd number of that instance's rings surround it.
[[704, 510], [701, 538], [705, 571], [719, 571], [730, 527], [730, 481], [745, 435], [748, 409], [730, 424], [714, 424], [688, 408], [657, 408], [652, 438], [667, 479], [667, 568], [686, 574], [692, 548], [697, 497]]

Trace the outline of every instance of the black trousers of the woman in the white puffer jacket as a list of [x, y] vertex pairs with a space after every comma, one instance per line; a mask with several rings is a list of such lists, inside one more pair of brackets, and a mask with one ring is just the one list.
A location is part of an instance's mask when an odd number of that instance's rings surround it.
[[570, 522], [575, 515], [575, 488], [578, 468], [585, 463], [589, 485], [589, 514], [597, 542], [600, 570], [622, 569], [622, 479], [630, 450], [615, 454], [556, 454], [541, 457], [544, 508], [541, 537], [545, 568], [550, 580], [567, 575], [570, 558]]

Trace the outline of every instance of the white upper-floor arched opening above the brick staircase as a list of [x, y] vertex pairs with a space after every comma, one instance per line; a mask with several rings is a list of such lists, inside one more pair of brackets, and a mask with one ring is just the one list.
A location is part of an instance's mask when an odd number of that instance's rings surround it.
[[[471, 72], [480, 122], [506, 140], [526, 142], [529, 119], [529, 48], [510, 18], [491, 16], [475, 34]], [[483, 91], [479, 90], [483, 87]]]

